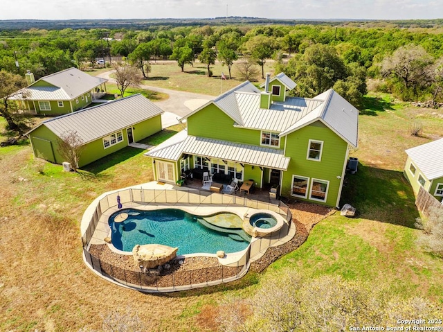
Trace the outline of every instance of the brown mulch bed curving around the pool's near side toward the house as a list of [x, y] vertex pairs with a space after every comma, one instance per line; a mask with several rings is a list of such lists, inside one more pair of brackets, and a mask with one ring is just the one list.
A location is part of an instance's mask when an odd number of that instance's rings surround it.
[[[264, 256], [251, 263], [250, 270], [262, 272], [280, 256], [289, 254], [304, 243], [309, 231], [317, 222], [334, 213], [334, 209], [318, 204], [295, 202], [288, 204], [292, 213], [292, 222], [296, 224], [296, 235], [287, 243], [278, 247], [269, 247]], [[216, 257], [196, 256], [174, 259], [156, 269], [141, 270], [132, 255], [117, 254], [103, 245], [91, 245], [89, 252], [100, 260], [100, 268], [109, 276], [127, 283], [146, 287], [172, 287], [195, 283], [205, 283], [234, 277], [243, 268], [221, 265]]]

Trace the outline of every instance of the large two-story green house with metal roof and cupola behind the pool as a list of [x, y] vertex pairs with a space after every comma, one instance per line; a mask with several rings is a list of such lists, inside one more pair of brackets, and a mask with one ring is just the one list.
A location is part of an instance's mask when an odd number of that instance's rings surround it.
[[284, 73], [266, 75], [263, 86], [244, 82], [183, 117], [187, 129], [146, 154], [156, 180], [174, 183], [188, 169], [207, 170], [213, 179], [253, 180], [338, 207], [359, 111], [332, 89], [287, 96], [296, 83]]

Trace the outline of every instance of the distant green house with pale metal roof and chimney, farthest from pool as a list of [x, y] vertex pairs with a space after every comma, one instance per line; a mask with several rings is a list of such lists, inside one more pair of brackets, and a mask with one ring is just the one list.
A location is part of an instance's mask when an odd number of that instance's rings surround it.
[[106, 93], [105, 78], [88, 75], [74, 67], [34, 79], [26, 73], [28, 87], [15, 94], [19, 108], [32, 114], [66, 114], [80, 110]]

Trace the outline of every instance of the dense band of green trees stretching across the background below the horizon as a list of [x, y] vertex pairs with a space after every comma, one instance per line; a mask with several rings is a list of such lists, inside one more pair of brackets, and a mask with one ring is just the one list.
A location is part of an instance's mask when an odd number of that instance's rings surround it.
[[404, 101], [442, 101], [442, 44], [437, 28], [368, 24], [30, 28], [0, 30], [0, 70], [21, 76], [30, 70], [38, 79], [73, 66], [94, 68], [98, 58], [111, 56], [122, 57], [144, 78], [156, 60], [175, 60], [181, 71], [199, 60], [208, 76], [218, 60], [233, 78], [233, 63], [241, 60], [246, 69], [239, 79], [253, 80], [248, 66], [261, 69], [263, 78], [264, 64], [273, 59], [276, 72], [297, 82], [297, 96], [316, 96], [334, 88], [358, 106], [368, 78], [380, 91]]

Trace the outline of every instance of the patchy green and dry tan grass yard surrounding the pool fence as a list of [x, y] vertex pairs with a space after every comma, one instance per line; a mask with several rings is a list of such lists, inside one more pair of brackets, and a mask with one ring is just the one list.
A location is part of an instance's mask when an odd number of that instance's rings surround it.
[[[179, 76], [205, 78], [197, 73]], [[425, 137], [408, 133], [415, 119], [423, 121]], [[0, 118], [0, 128], [4, 125]], [[156, 145], [180, 129], [174, 126], [144, 142]], [[152, 160], [143, 150], [124, 148], [79, 173], [66, 173], [60, 165], [35, 159], [27, 141], [0, 148], [0, 330], [100, 329], [103, 315], [129, 306], [143, 317], [147, 331], [215, 331], [215, 317], [223, 310], [219, 303], [251, 297], [283, 267], [311, 279], [339, 274], [388, 284], [392, 294], [443, 304], [443, 261], [415, 244], [420, 231], [413, 223], [419, 213], [402, 175], [405, 148], [443, 136], [442, 111], [370, 95], [359, 130], [359, 148], [351, 154], [359, 158], [359, 168], [346, 176], [342, 200], [356, 207], [356, 218], [335, 213], [321, 221], [298, 250], [263, 274], [168, 295], [120, 288], [97, 277], [82, 261], [84, 210], [105, 191], [152, 180]], [[5, 138], [0, 130], [0, 141]]]

